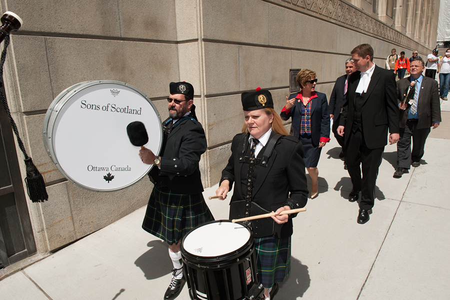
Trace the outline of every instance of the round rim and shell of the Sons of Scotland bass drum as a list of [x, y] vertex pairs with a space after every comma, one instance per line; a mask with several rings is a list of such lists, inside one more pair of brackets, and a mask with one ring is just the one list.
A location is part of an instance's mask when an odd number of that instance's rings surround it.
[[[54, 126], [54, 122], [55, 122], [55, 120], [56, 120], [56, 118], [58, 116], [58, 112], [62, 109], [62, 107], [65, 105], [65, 103], [67, 103], [71, 99], [71, 97], [73, 97], [79, 91], [82, 91], [82, 90], [84, 90], [86, 88], [89, 88], [91, 86], [94, 86], [94, 85], [101, 85], [101, 84], [116, 84], [116, 85], [121, 85], [121, 86], [125, 86], [127, 88], [130, 88], [130, 89], [134, 90], [136, 93], [138, 93], [139, 95], [141, 95], [151, 105], [151, 107], [153, 108], [156, 116], [159, 119], [158, 120], [159, 122], [157, 122], [157, 123], [159, 125], [158, 128], [159, 128], [159, 132], [160, 132], [161, 138], [159, 139], [158, 150], [155, 153], [156, 156], [159, 155], [159, 153], [161, 151], [161, 148], [162, 148], [162, 122], [161, 122], [161, 117], [159, 115], [159, 112], [156, 109], [156, 106], [153, 104], [153, 102], [150, 100], [150, 98], [148, 96], [146, 96], [142, 91], [140, 91], [136, 87], [134, 87], [134, 86], [132, 86], [130, 84], [121, 82], [121, 81], [116, 81], [116, 80], [84, 81], [84, 82], [81, 82], [81, 83], [78, 83], [78, 84], [74, 84], [74, 85], [68, 87], [67, 89], [63, 90], [61, 93], [59, 93], [58, 96], [56, 96], [56, 98], [50, 104], [50, 106], [49, 106], [49, 108], [47, 110], [47, 113], [45, 114], [44, 124], [43, 124], [43, 128], [42, 128], [42, 138], [44, 140], [43, 143], [44, 143], [45, 150], [47, 151], [47, 154], [50, 157], [51, 161], [54, 163], [54, 165], [56, 166], [58, 171], [61, 172], [62, 176], [64, 176], [68, 181], [70, 181], [74, 185], [76, 185], [78, 187], [81, 187], [81, 188], [83, 188], [85, 190], [88, 190], [88, 191], [113, 192], [113, 191], [119, 191], [119, 190], [125, 189], [125, 188], [133, 185], [134, 183], [138, 182], [143, 177], [145, 177], [148, 174], [148, 172], [150, 172], [150, 170], [153, 168], [154, 165], [149, 165], [147, 170], [140, 177], [138, 177], [134, 181], [132, 181], [132, 182], [130, 182], [130, 183], [124, 185], [124, 186], [120, 186], [120, 187], [112, 188], [112, 189], [95, 189], [95, 188], [91, 188], [89, 186], [85, 186], [85, 185], [75, 181], [60, 166], [59, 162], [57, 161], [56, 153], [54, 152], [54, 149], [53, 149], [53, 139], [52, 139], [53, 128], [51, 128], [51, 129], [49, 128], [50, 124], [53, 124], [53, 126]], [[52, 108], [51, 111], [50, 111], [50, 108]], [[48, 114], [48, 117], [47, 117], [47, 114]]]

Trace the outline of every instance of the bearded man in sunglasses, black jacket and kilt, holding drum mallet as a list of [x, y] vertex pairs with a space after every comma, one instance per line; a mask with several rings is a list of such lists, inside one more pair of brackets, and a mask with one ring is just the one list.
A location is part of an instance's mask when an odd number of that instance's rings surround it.
[[169, 118], [162, 122], [161, 154], [156, 156], [146, 148], [139, 151], [143, 163], [154, 165], [150, 172], [154, 187], [142, 228], [168, 243], [173, 264], [164, 300], [176, 298], [186, 282], [181, 238], [197, 225], [213, 220], [202, 196], [198, 162], [206, 151], [206, 138], [193, 113], [193, 87], [187, 82], [171, 82], [169, 88]]

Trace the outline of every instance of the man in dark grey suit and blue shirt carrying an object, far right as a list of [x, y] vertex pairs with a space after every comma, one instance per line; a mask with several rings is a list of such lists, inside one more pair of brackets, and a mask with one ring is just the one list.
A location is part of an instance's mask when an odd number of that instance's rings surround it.
[[[397, 81], [397, 100], [400, 108], [400, 140], [397, 143], [397, 169], [393, 177], [400, 178], [406, 169], [418, 167], [425, 148], [430, 127], [437, 128], [441, 121], [437, 82], [422, 76], [425, 63], [414, 59], [409, 67], [411, 76]], [[415, 82], [414, 97], [403, 101], [405, 91]], [[404, 102], [404, 103], [403, 103]], [[412, 151], [411, 151], [412, 137]], [[411, 163], [412, 161], [412, 163]]]

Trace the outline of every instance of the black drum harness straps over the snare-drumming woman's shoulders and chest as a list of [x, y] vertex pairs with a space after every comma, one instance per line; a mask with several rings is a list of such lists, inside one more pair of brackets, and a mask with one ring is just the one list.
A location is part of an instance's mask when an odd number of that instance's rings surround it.
[[251, 199], [252, 190], [253, 190], [253, 174], [254, 174], [254, 166], [262, 166], [267, 167], [267, 160], [273, 152], [273, 148], [275, 148], [275, 144], [282, 137], [281, 134], [273, 135], [265, 146], [264, 152], [262, 153], [261, 158], [249, 157], [245, 156], [245, 144], [248, 140], [249, 134], [245, 135], [242, 143], [242, 153], [239, 156], [239, 163], [247, 163], [248, 164], [248, 172], [247, 172], [247, 188], [245, 190], [245, 216], [248, 217], [251, 211]]

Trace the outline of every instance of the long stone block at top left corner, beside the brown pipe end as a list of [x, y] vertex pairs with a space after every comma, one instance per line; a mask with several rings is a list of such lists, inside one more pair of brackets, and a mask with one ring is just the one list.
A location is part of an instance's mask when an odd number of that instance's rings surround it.
[[8, 1], [8, 10], [23, 20], [20, 31], [119, 37], [115, 0]]

